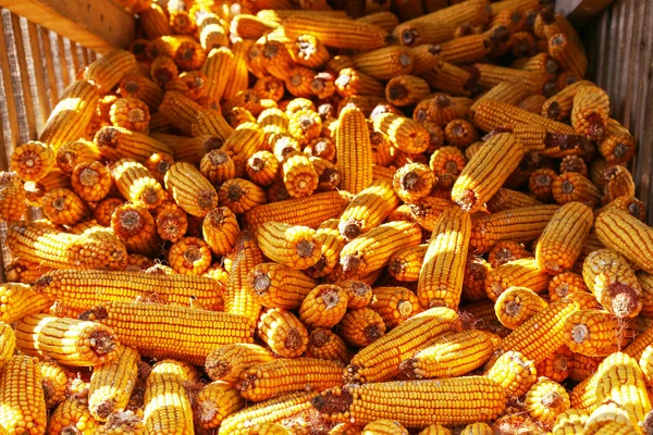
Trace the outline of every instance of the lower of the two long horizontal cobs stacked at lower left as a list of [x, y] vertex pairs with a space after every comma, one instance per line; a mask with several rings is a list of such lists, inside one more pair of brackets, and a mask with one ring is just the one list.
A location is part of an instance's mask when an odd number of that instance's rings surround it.
[[[244, 316], [159, 303], [108, 302], [81, 315], [84, 316], [108, 325], [124, 346], [135, 347], [144, 356], [177, 358], [196, 364], [204, 364], [215, 346], [251, 343], [252, 336]], [[152, 331], [152, 323], [175, 334], [160, 337]], [[199, 332], [209, 323], [210, 331]]]

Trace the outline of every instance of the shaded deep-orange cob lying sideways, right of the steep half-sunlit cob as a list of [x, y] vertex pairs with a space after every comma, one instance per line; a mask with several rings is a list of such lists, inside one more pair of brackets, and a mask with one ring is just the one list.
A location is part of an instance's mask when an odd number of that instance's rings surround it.
[[470, 249], [481, 253], [501, 240], [533, 240], [542, 234], [557, 209], [557, 206], [523, 207], [482, 216], [472, 227]]

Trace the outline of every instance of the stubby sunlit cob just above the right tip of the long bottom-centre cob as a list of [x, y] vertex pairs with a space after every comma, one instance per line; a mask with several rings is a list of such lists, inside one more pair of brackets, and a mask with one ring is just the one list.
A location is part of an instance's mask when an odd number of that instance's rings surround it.
[[535, 365], [519, 351], [506, 351], [496, 359], [485, 376], [512, 396], [522, 396], [537, 381]]

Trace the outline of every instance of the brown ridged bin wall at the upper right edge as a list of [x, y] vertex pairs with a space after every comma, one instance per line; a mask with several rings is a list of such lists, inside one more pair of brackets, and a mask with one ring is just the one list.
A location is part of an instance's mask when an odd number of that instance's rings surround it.
[[590, 76], [607, 90], [612, 115], [637, 137], [637, 196], [653, 224], [653, 1], [618, 0], [581, 30]]

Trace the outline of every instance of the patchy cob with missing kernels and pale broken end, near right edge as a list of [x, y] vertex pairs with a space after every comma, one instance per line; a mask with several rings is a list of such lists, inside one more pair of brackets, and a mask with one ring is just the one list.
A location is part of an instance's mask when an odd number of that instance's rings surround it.
[[599, 302], [617, 318], [633, 318], [641, 311], [641, 286], [618, 253], [608, 249], [590, 253], [582, 265], [582, 276]]

